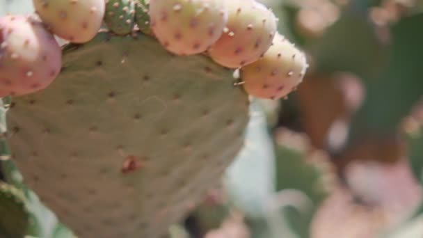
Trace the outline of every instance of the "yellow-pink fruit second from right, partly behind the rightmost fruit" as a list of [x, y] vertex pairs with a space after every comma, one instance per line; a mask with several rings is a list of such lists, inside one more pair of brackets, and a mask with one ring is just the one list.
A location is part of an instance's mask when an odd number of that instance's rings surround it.
[[227, 6], [227, 26], [208, 52], [217, 63], [239, 68], [257, 61], [269, 49], [277, 19], [271, 10], [254, 0], [231, 0]]

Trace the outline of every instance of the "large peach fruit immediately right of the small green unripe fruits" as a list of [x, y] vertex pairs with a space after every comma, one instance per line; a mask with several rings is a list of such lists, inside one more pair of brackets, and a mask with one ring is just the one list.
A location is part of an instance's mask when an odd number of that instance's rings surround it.
[[156, 38], [177, 55], [206, 51], [228, 19], [225, 0], [155, 0], [149, 14]]

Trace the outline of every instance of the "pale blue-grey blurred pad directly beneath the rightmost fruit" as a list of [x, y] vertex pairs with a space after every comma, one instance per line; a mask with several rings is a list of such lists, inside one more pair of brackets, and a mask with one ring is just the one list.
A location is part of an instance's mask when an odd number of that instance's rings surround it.
[[244, 148], [228, 168], [224, 180], [230, 201], [247, 216], [265, 215], [264, 201], [275, 191], [274, 159], [266, 115], [253, 100]]

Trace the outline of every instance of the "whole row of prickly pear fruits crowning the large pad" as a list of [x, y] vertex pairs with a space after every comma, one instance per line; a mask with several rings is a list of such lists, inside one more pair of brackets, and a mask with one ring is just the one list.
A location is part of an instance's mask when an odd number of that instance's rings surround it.
[[240, 69], [246, 92], [276, 100], [292, 92], [308, 67], [305, 54], [277, 32], [277, 18], [255, 0], [33, 0], [40, 19], [0, 18], [0, 97], [49, 86], [61, 70], [54, 35], [93, 40], [103, 22], [116, 35], [135, 24], [178, 56], [206, 54]]

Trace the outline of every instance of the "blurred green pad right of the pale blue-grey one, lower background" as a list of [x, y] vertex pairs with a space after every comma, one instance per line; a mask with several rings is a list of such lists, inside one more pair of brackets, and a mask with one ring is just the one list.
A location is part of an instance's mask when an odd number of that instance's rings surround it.
[[298, 237], [308, 238], [312, 216], [328, 195], [325, 184], [328, 171], [308, 161], [309, 148], [301, 148], [306, 143], [298, 146], [300, 138], [294, 138], [291, 132], [282, 132], [280, 138], [276, 147], [277, 190], [279, 193], [291, 191], [284, 199], [292, 204], [285, 206], [282, 214]]

